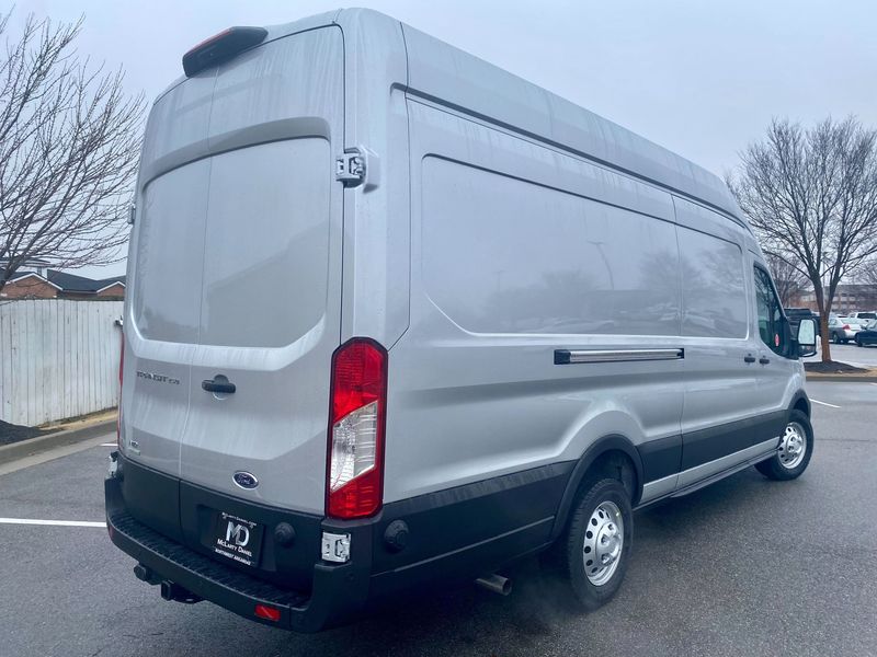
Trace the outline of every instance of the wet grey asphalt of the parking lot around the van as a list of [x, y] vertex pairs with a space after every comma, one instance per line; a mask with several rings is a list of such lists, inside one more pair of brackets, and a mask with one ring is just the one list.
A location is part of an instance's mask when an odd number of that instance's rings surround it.
[[626, 581], [589, 615], [557, 602], [535, 560], [508, 598], [436, 590], [310, 636], [166, 602], [101, 527], [4, 522], [103, 520], [111, 448], [29, 464], [0, 475], [0, 655], [875, 655], [877, 384], [808, 392], [820, 403], [805, 475], [750, 469], [638, 511]]

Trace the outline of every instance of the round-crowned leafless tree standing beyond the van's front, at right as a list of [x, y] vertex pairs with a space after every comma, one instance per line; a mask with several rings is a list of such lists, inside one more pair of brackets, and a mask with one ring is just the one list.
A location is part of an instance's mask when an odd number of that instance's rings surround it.
[[774, 119], [764, 140], [741, 153], [728, 184], [765, 251], [812, 284], [822, 360], [830, 361], [838, 284], [877, 254], [877, 132], [853, 117], [808, 129]]

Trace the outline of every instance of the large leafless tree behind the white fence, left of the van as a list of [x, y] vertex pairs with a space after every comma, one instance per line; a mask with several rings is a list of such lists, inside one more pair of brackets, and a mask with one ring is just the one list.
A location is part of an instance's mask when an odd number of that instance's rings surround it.
[[145, 103], [77, 56], [81, 27], [32, 14], [0, 55], [0, 290], [27, 260], [109, 264], [127, 240]]

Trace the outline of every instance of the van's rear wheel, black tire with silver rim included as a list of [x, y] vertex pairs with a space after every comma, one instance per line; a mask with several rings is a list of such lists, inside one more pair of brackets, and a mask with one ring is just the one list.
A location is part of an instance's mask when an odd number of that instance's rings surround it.
[[634, 540], [634, 514], [622, 482], [604, 479], [585, 486], [558, 548], [561, 575], [574, 600], [593, 611], [622, 586]]

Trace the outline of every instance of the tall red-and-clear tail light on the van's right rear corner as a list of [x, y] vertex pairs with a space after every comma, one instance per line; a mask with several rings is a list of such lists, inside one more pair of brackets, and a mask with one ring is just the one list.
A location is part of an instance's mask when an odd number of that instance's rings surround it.
[[372, 516], [384, 488], [387, 351], [353, 338], [332, 356], [326, 512], [332, 518]]

